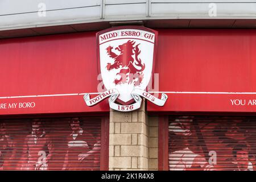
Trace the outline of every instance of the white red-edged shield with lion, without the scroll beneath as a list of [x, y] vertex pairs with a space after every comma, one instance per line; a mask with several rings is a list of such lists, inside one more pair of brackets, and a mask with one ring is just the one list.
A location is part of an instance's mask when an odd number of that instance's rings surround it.
[[147, 88], [154, 69], [157, 36], [156, 31], [137, 26], [98, 32], [98, 69], [105, 88], [118, 90], [117, 101], [121, 104], [134, 101], [134, 88]]

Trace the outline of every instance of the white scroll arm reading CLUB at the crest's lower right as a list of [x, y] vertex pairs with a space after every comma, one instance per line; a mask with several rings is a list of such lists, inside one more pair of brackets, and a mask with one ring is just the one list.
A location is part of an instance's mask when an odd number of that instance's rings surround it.
[[163, 106], [166, 103], [166, 100], [168, 96], [166, 94], [162, 94], [161, 98], [156, 98], [155, 96], [152, 96], [150, 93], [141, 90], [141, 89], [133, 89], [133, 92], [131, 92], [132, 95], [142, 96], [146, 98], [148, 101], [154, 103], [158, 106]]

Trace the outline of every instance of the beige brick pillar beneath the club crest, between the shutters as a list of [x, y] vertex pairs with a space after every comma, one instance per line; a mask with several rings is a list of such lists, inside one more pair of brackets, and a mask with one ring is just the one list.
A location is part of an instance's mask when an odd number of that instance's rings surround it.
[[110, 111], [109, 170], [158, 169], [158, 119], [148, 120], [144, 101], [137, 111]]

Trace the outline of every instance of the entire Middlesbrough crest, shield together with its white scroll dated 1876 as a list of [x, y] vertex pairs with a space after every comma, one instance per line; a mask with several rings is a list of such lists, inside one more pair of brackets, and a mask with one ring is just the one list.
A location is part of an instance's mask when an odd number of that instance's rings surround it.
[[110, 108], [132, 111], [141, 107], [142, 98], [163, 106], [167, 95], [160, 98], [147, 92], [154, 73], [158, 32], [138, 26], [109, 28], [97, 33], [98, 73], [104, 92], [94, 98], [86, 93], [86, 105], [93, 106], [109, 97]]

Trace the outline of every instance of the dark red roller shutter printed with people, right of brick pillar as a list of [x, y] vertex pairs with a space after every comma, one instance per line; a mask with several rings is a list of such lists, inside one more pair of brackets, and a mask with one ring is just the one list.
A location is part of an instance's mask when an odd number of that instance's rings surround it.
[[253, 117], [170, 116], [168, 169], [171, 171], [254, 171]]

